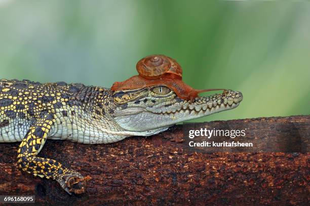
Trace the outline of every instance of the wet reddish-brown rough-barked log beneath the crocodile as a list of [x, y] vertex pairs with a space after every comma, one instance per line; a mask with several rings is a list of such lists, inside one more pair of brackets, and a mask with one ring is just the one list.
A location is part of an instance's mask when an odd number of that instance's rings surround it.
[[[260, 125], [264, 126], [264, 133]], [[309, 138], [310, 116], [216, 121], [238, 124], [260, 138], [278, 133]], [[295, 124], [296, 123], [296, 124]], [[256, 128], [256, 129], [255, 129]], [[182, 126], [151, 137], [87, 145], [49, 140], [41, 157], [53, 158], [90, 175], [87, 192], [68, 195], [56, 181], [21, 172], [19, 143], [0, 144], [0, 194], [35, 195], [37, 203], [57, 205], [307, 205], [309, 153], [193, 152], [183, 147]], [[271, 136], [272, 137], [272, 136]], [[29, 205], [29, 204], [27, 204]]]

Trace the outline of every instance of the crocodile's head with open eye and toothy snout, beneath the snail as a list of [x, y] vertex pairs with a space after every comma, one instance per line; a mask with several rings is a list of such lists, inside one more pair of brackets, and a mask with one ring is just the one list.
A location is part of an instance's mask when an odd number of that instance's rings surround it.
[[126, 131], [145, 132], [149, 135], [187, 120], [236, 108], [241, 92], [224, 90], [221, 94], [197, 97], [192, 102], [179, 98], [165, 86], [115, 91], [111, 117]]

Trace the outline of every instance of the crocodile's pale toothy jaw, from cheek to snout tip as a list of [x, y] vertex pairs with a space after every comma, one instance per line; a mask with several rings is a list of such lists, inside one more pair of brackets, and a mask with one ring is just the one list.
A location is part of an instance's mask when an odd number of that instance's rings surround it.
[[182, 100], [169, 107], [133, 107], [114, 114], [114, 121], [127, 131], [151, 131], [214, 113], [231, 110], [239, 106], [241, 92], [225, 90], [222, 94], [198, 97], [194, 102]]

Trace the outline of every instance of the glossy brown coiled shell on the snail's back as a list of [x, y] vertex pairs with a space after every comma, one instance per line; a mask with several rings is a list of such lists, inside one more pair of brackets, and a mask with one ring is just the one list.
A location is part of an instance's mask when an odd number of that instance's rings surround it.
[[151, 55], [141, 59], [137, 63], [139, 75], [145, 79], [158, 79], [165, 74], [173, 74], [182, 79], [182, 68], [173, 59], [164, 55]]

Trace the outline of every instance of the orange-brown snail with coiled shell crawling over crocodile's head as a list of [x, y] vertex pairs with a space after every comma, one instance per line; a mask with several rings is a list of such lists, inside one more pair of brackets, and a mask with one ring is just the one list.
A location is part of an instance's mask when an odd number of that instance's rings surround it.
[[172, 58], [164, 55], [151, 55], [141, 59], [136, 69], [139, 75], [123, 82], [114, 82], [112, 91], [139, 89], [149, 86], [166, 86], [182, 99], [193, 100], [206, 91], [224, 89], [193, 89], [182, 81], [182, 68]]

